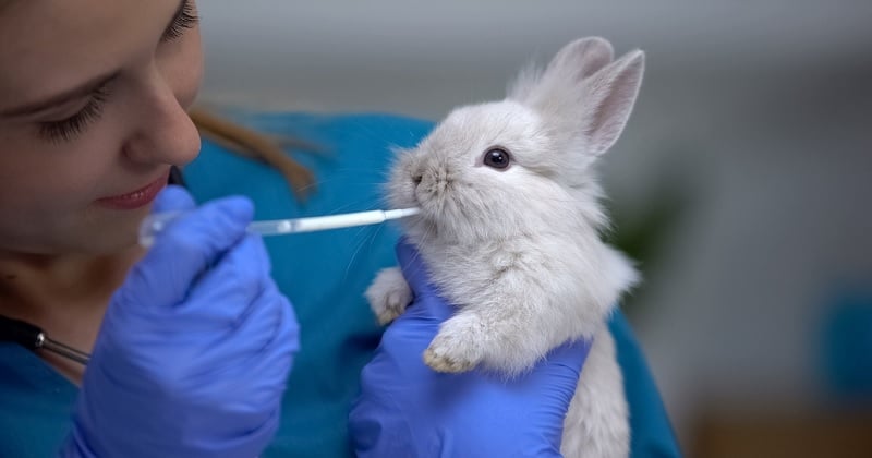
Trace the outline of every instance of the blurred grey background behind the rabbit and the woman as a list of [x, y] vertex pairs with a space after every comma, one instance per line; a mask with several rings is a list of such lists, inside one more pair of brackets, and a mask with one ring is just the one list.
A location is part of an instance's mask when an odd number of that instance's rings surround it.
[[435, 121], [574, 38], [642, 48], [602, 170], [685, 453], [870, 447], [872, 2], [199, 3], [215, 107]]

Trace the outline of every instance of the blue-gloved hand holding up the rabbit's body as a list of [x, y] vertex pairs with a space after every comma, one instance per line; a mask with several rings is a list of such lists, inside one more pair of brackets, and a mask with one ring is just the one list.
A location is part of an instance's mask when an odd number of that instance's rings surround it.
[[359, 457], [560, 456], [564, 418], [590, 342], [555, 349], [518, 378], [473, 370], [440, 374], [422, 360], [450, 317], [415, 250], [397, 255], [414, 292], [363, 369], [349, 429]]

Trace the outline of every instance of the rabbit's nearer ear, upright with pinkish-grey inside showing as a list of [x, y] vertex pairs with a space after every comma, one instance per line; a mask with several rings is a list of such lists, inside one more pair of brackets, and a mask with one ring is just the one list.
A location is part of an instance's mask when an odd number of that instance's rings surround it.
[[635, 50], [583, 81], [582, 128], [589, 152], [601, 155], [618, 140], [639, 95], [645, 53]]

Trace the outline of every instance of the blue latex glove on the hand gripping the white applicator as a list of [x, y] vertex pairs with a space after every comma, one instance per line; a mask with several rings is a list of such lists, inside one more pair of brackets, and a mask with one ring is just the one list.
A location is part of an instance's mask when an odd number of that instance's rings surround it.
[[[193, 209], [181, 188], [156, 210]], [[173, 222], [112, 297], [63, 456], [255, 457], [271, 439], [298, 324], [269, 276], [253, 206]]]

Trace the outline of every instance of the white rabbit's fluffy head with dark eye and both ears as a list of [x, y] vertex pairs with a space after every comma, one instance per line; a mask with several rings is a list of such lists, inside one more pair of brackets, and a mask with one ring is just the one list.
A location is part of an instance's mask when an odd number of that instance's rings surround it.
[[398, 152], [395, 208], [417, 206], [407, 233], [471, 241], [606, 224], [595, 159], [617, 141], [642, 81], [644, 55], [613, 61], [582, 38], [544, 70], [521, 73], [506, 99], [453, 110], [417, 146]]

